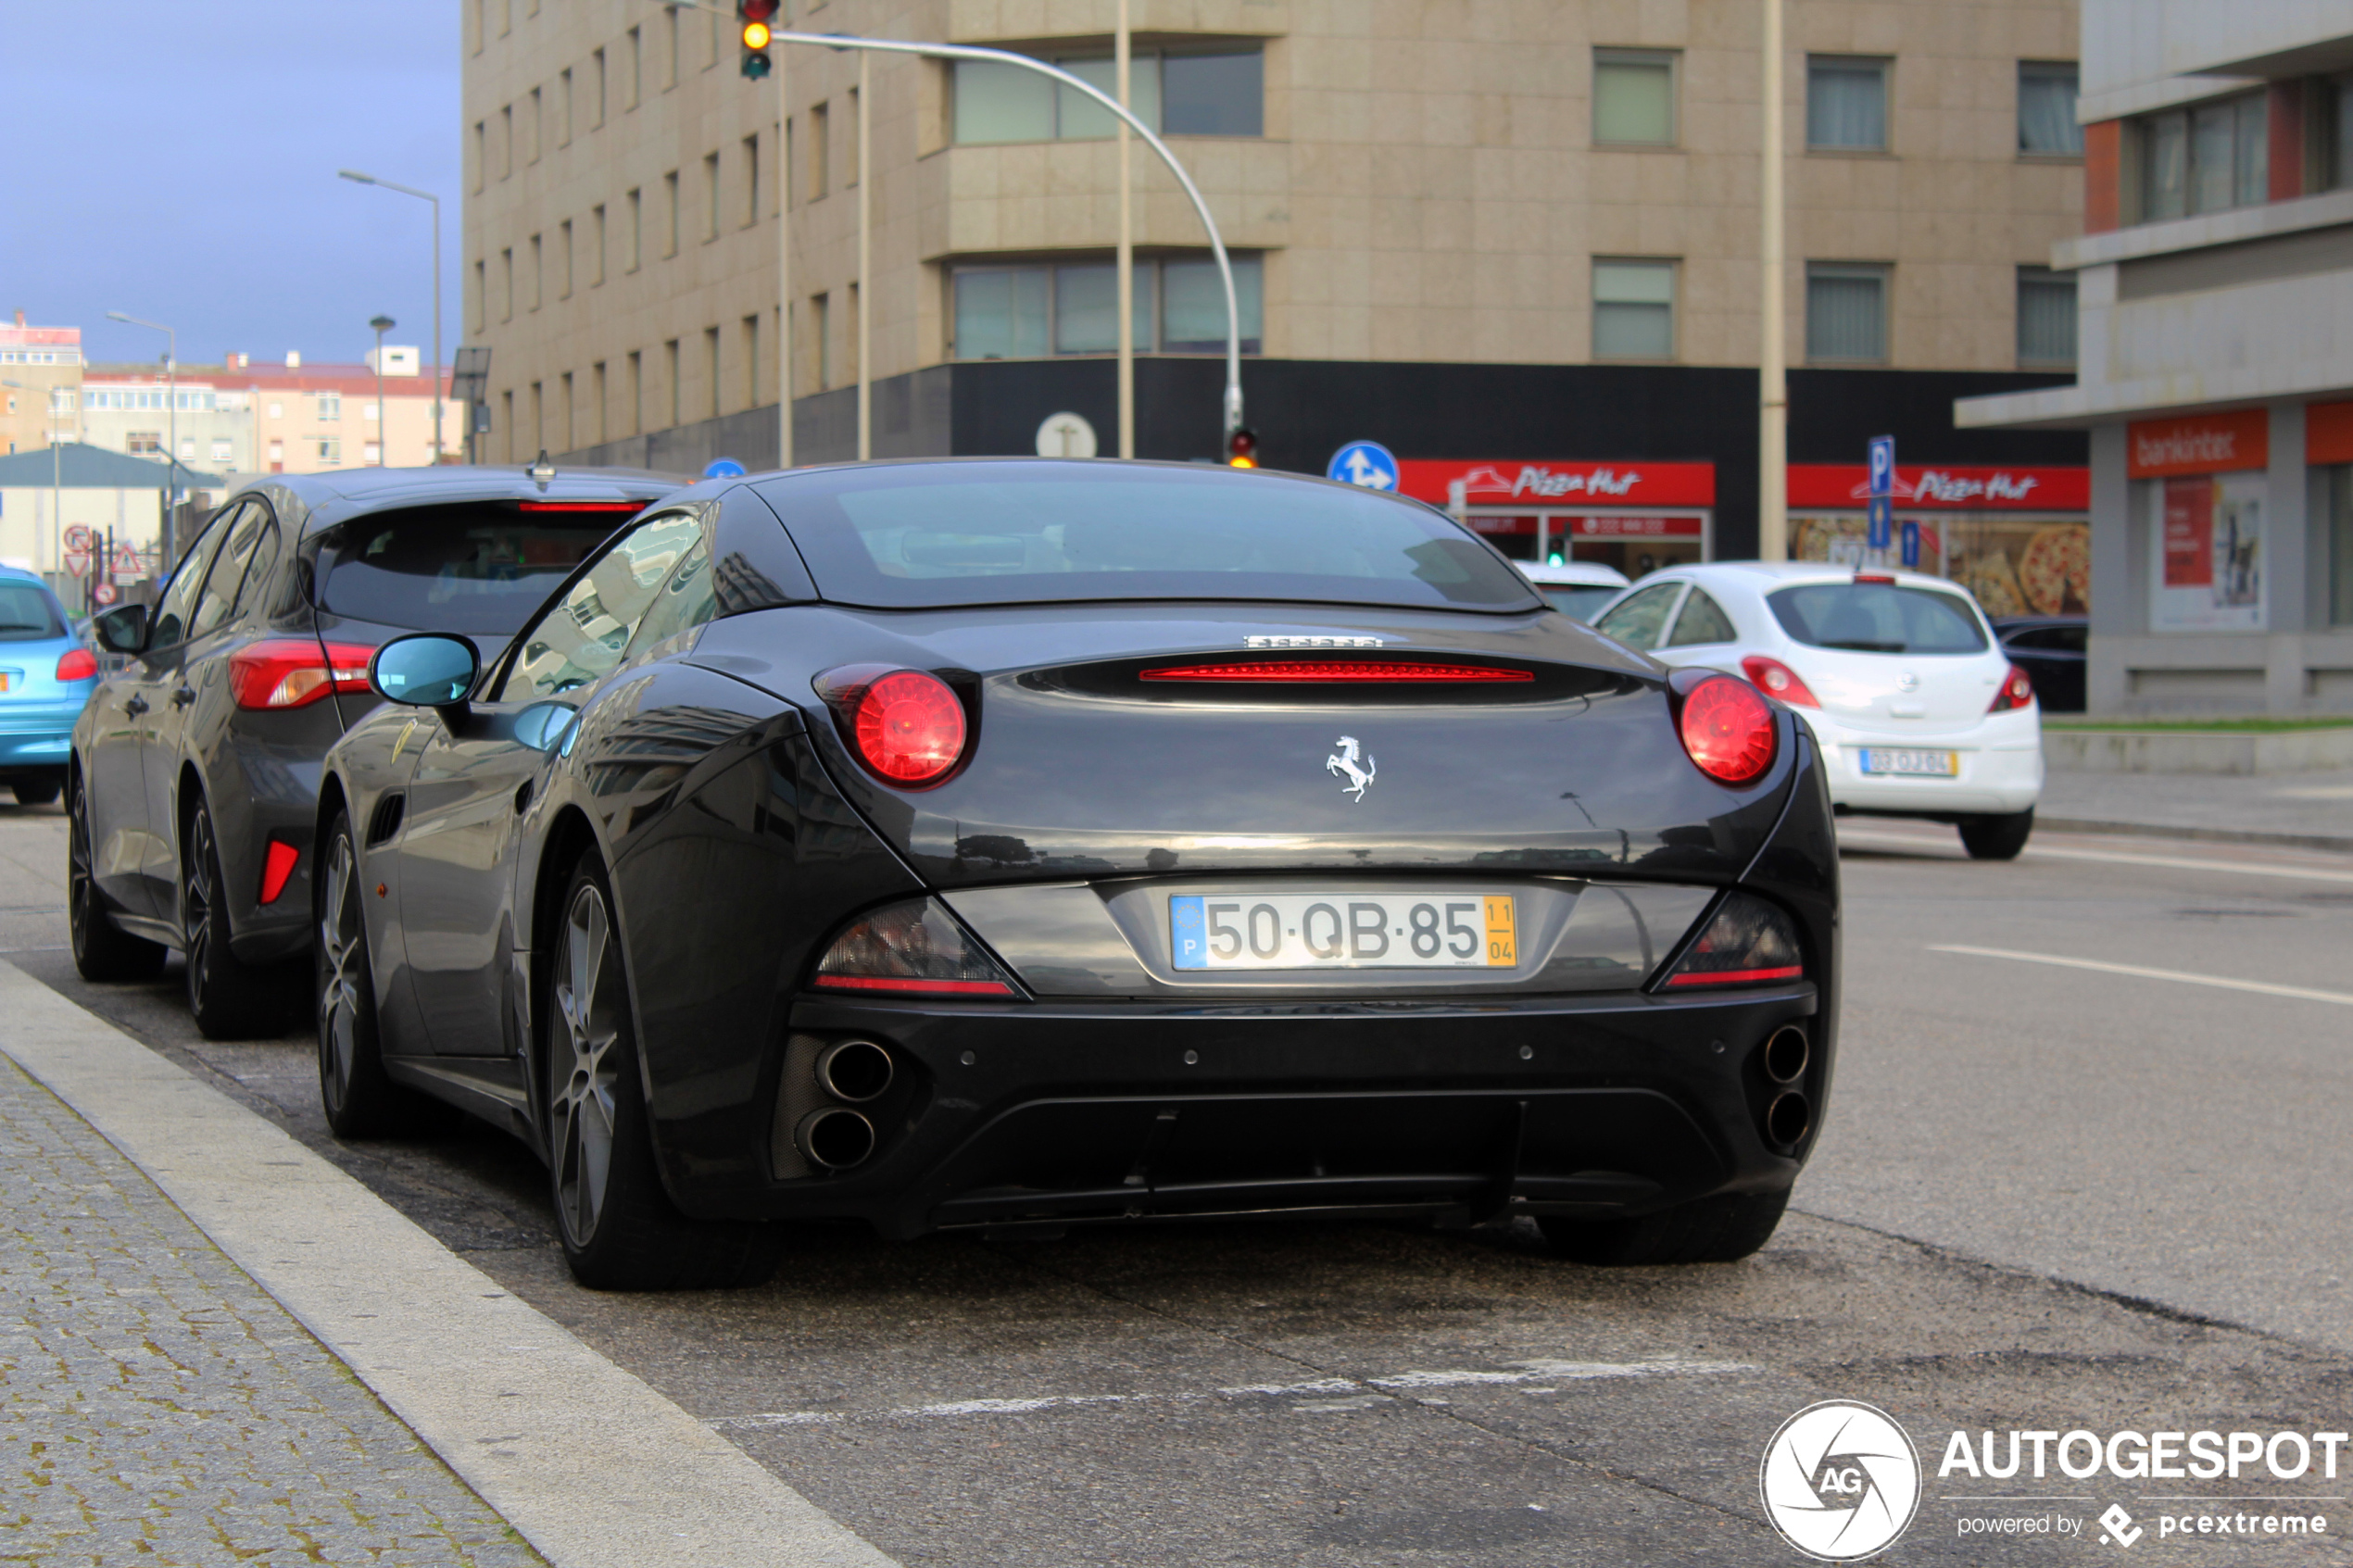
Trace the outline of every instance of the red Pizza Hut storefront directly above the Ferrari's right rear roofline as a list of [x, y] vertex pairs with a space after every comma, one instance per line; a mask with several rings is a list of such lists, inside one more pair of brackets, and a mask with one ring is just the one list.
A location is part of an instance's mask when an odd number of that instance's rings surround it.
[[1628, 578], [1704, 562], [1715, 543], [1715, 463], [1402, 458], [1398, 487], [1442, 505], [1518, 562], [1617, 567]]

